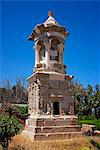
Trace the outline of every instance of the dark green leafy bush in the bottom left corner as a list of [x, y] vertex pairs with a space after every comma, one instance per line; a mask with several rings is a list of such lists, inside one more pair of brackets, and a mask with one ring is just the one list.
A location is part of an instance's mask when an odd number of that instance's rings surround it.
[[18, 134], [23, 125], [20, 121], [9, 114], [0, 114], [0, 144], [5, 148], [8, 146], [11, 137]]

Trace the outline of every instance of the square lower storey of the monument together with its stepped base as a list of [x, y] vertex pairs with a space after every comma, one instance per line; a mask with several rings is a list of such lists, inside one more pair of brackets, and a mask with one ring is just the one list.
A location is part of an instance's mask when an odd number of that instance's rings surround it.
[[29, 113], [25, 131], [31, 140], [68, 139], [81, 135], [71, 78], [60, 73], [36, 73], [29, 79]]

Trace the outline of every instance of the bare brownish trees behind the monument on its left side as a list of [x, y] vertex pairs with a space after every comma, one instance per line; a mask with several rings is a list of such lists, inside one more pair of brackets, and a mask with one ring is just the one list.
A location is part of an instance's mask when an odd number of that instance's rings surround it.
[[0, 102], [27, 103], [28, 92], [24, 84], [24, 80], [20, 78], [16, 79], [13, 86], [6, 80], [3, 87], [0, 87]]

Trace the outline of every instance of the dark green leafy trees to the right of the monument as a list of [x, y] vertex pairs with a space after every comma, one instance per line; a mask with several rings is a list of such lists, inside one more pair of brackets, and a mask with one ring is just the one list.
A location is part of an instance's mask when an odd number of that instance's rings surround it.
[[98, 84], [95, 86], [95, 89], [90, 84], [84, 89], [82, 84], [74, 82], [73, 96], [75, 102], [78, 103], [78, 114], [89, 117], [94, 109], [96, 118], [100, 118], [100, 86]]

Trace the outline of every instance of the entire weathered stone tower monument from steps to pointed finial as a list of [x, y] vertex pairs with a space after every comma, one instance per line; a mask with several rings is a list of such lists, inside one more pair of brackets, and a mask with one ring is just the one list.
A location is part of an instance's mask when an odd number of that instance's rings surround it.
[[24, 133], [32, 140], [65, 139], [80, 135], [72, 98], [73, 76], [63, 62], [68, 31], [48, 12], [48, 19], [36, 25], [29, 40], [34, 41], [35, 67], [28, 78], [29, 118]]

